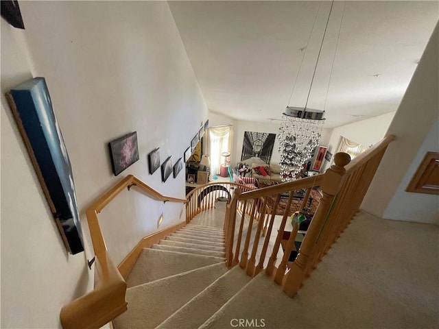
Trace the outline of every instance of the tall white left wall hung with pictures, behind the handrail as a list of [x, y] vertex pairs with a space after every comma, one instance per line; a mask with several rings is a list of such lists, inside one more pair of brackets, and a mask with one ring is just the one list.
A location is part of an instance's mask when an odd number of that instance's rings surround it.
[[[147, 153], [175, 161], [207, 108], [166, 2], [22, 1], [26, 29], [1, 20], [1, 89], [46, 78], [84, 210], [128, 173], [165, 195], [185, 197], [184, 173], [161, 182]], [[29, 58], [28, 58], [29, 56]], [[58, 328], [59, 311], [93, 285], [86, 254], [67, 254], [2, 96], [1, 328]], [[140, 160], [117, 178], [107, 143], [137, 131]], [[100, 215], [119, 263], [141, 237], [180, 221], [181, 204], [126, 191]], [[184, 216], [184, 215], [183, 215]], [[183, 218], [182, 218], [183, 219]], [[86, 241], [86, 242], [87, 242]]]

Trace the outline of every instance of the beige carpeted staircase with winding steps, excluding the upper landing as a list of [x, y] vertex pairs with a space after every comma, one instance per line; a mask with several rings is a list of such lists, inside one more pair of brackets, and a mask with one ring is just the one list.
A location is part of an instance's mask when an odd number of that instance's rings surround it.
[[225, 265], [224, 232], [189, 223], [143, 249], [126, 282], [128, 311], [115, 329], [209, 327], [251, 278]]

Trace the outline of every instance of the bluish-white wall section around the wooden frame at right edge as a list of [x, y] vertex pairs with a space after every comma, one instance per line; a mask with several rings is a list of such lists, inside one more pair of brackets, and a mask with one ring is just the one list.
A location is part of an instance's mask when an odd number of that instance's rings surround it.
[[419, 221], [423, 223], [435, 223], [439, 225], [439, 196], [405, 192], [410, 180], [412, 180], [420, 162], [428, 151], [439, 152], [439, 121], [431, 128], [423, 145], [421, 145], [412, 164], [396, 193], [385, 208], [384, 219], [399, 219], [402, 221]]

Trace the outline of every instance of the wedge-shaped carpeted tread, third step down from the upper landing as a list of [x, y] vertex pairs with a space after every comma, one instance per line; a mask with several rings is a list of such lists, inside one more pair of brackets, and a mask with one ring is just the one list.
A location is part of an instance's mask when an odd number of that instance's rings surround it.
[[224, 263], [224, 258], [168, 250], [143, 249], [132, 267], [126, 283], [128, 287], [134, 287], [216, 263]]

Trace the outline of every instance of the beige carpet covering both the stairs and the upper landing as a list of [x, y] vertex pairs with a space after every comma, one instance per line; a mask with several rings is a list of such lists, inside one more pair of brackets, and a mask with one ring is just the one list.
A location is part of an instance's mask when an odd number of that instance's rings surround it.
[[200, 239], [223, 234], [203, 221], [211, 228], [185, 227], [196, 239], [158, 245], [178, 252], [143, 252], [115, 329], [439, 328], [438, 226], [360, 212], [292, 299], [264, 273], [250, 280], [239, 267], [226, 271], [224, 258], [192, 254], [224, 252]]

